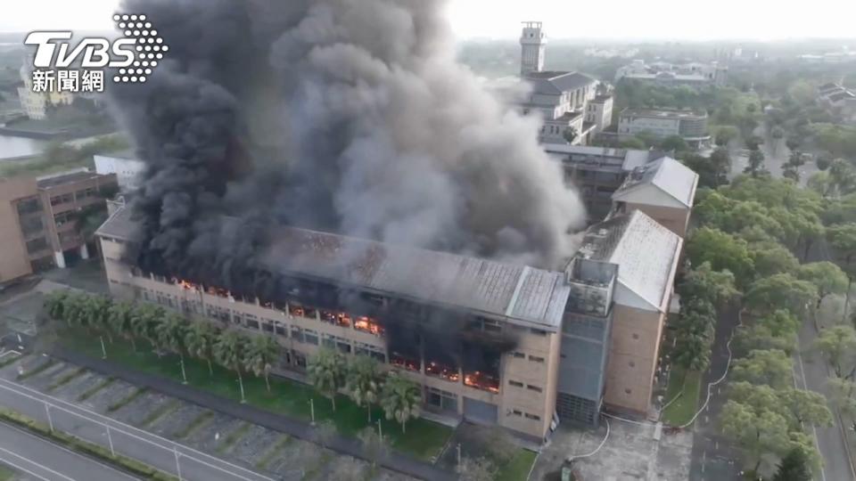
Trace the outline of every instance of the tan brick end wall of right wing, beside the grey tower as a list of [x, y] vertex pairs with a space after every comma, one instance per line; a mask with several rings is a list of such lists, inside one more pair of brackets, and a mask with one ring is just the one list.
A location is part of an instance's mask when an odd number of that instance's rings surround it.
[[604, 402], [614, 408], [647, 413], [663, 335], [665, 314], [616, 304], [606, 367]]

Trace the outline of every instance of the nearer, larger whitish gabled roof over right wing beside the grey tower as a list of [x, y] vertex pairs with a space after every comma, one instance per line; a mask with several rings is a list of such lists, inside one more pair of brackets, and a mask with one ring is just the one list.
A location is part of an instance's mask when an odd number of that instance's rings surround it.
[[[618, 265], [618, 282], [648, 309], [664, 312], [683, 240], [640, 210], [592, 225], [578, 256]], [[620, 298], [619, 304], [636, 304]], [[636, 299], [631, 299], [635, 301]]]

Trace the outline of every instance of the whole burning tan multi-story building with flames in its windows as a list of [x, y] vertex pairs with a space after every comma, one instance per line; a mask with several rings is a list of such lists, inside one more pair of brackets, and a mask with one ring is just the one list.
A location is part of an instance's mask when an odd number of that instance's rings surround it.
[[682, 244], [632, 210], [591, 227], [552, 272], [281, 227], [281, 289], [259, 298], [141, 272], [133, 227], [119, 208], [97, 232], [114, 296], [273, 336], [280, 374], [322, 346], [370, 355], [420, 383], [426, 409], [533, 440], [557, 417], [597, 423], [604, 403], [648, 412]]

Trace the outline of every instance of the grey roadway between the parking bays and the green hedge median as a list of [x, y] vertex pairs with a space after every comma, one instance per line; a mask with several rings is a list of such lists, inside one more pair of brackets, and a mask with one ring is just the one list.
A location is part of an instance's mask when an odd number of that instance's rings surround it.
[[187, 481], [274, 481], [10, 380], [0, 379], [0, 405], [170, 474], [181, 469]]

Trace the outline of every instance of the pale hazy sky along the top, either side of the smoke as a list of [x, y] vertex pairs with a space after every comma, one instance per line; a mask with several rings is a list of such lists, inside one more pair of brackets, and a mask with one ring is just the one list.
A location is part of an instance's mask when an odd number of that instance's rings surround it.
[[[118, 4], [4, 0], [0, 31], [110, 29]], [[516, 37], [522, 20], [545, 21], [553, 38], [856, 37], [856, 0], [611, 0], [586, 5], [569, 0], [450, 0], [449, 20], [464, 38]]]

